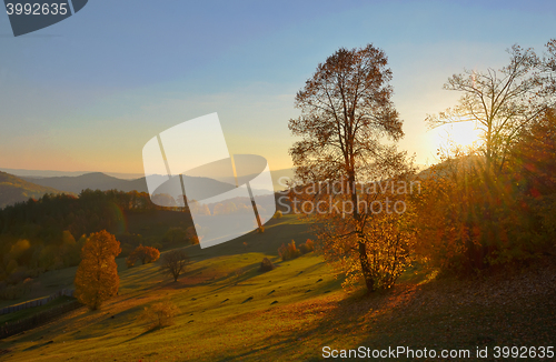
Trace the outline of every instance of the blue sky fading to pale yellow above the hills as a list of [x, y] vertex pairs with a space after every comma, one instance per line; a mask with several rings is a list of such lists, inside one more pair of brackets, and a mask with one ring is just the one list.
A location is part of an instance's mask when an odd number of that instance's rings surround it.
[[91, 0], [14, 38], [0, 13], [0, 170], [142, 173], [151, 138], [214, 112], [231, 154], [290, 168], [296, 92], [368, 43], [393, 70], [399, 149], [431, 164], [444, 131], [424, 120], [460, 97], [446, 80], [504, 67], [515, 43], [542, 53], [555, 23], [554, 0]]

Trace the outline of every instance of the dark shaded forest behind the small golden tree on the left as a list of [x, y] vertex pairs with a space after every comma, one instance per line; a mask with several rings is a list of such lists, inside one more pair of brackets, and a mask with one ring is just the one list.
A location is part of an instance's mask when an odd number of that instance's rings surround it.
[[0, 298], [16, 299], [38, 288], [32, 279], [44, 271], [78, 265], [88, 235], [100, 230], [116, 234], [122, 255], [139, 244], [161, 249], [195, 237], [192, 228], [179, 225], [165, 228], [166, 234], [156, 240], [127, 230], [129, 215], [161, 210], [168, 212], [146, 192], [116, 190], [83, 190], [79, 197], [46, 194], [6, 207], [0, 210]]

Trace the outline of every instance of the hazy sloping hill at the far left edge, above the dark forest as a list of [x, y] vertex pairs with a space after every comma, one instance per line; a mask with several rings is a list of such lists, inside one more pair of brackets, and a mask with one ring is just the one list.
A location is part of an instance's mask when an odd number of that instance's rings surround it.
[[44, 193], [58, 194], [63, 192], [0, 171], [0, 209], [16, 202], [27, 201], [30, 198], [39, 199]]

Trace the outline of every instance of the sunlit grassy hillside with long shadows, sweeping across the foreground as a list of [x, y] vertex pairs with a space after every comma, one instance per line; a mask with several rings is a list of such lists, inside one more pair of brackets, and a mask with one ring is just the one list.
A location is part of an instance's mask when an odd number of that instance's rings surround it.
[[[275, 221], [264, 237], [246, 235], [235, 247], [234, 242], [222, 244], [215, 253], [209, 253], [211, 248], [191, 248], [193, 263], [178, 283], [162, 278], [153, 264], [121, 269], [119, 296], [101, 311], [83, 308], [0, 341], [0, 350], [10, 351], [2, 358], [297, 361], [320, 360], [324, 345], [475, 351], [476, 345], [556, 342], [554, 260], [475, 282], [423, 283], [423, 275], [415, 274], [419, 270], [414, 270], [394, 290], [371, 296], [344, 292], [329, 268], [312, 254], [277, 262], [279, 267], [271, 272], [257, 272], [262, 257], [277, 261], [276, 245], [289, 241], [300, 231], [298, 227], [288, 217]], [[249, 296], [252, 300], [246, 301]], [[177, 303], [181, 313], [175, 325], [147, 331], [136, 316], [161, 299]]]

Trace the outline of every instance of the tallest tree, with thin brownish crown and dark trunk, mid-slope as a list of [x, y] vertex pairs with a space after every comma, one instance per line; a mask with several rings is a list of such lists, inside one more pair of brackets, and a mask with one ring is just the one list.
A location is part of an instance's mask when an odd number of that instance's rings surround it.
[[[291, 133], [301, 138], [290, 149], [298, 180], [305, 185], [340, 182], [344, 192], [332, 192], [334, 200], [340, 198], [358, 205], [360, 194], [349, 190], [405, 170], [405, 155], [394, 145], [381, 143], [404, 135], [403, 121], [391, 101], [390, 79], [385, 53], [373, 44], [341, 48], [318, 64], [296, 95], [300, 117], [289, 121]], [[331, 193], [325, 193], [316, 194], [320, 197], [316, 202], [327, 202]], [[348, 213], [328, 210], [314, 213], [320, 219], [315, 225], [320, 227], [317, 234], [322, 248], [335, 251], [329, 254], [331, 259], [357, 258], [357, 272], [374, 291], [380, 286], [373, 265], [376, 253], [369, 249], [374, 244], [369, 232], [374, 214], [359, 208]]]

